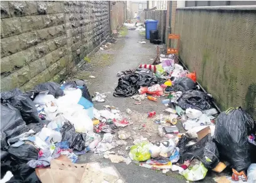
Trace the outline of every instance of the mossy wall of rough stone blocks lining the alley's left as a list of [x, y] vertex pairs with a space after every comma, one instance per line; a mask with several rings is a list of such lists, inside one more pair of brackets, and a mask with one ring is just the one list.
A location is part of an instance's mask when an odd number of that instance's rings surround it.
[[60, 82], [108, 37], [107, 1], [1, 1], [1, 91]]

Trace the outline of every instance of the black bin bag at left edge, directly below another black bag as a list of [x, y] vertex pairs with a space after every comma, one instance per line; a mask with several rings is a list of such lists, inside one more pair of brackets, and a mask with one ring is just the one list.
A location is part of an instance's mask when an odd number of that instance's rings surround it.
[[6, 105], [1, 104], [1, 149], [8, 149], [8, 139], [28, 131], [29, 128], [23, 121], [19, 111], [8, 103]]

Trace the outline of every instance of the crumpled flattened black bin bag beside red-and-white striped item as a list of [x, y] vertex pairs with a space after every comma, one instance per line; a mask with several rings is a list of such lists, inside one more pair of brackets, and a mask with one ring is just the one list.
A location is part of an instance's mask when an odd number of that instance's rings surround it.
[[139, 93], [141, 86], [152, 86], [157, 84], [157, 78], [151, 70], [137, 69], [131, 75], [123, 75], [118, 80], [114, 91], [114, 97], [131, 97]]

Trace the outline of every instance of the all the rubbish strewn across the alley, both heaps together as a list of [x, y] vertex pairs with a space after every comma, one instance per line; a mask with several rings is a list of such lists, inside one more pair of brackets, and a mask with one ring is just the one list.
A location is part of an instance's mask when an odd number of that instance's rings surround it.
[[[15, 88], [1, 92], [1, 181], [117, 181], [92, 164], [76, 164], [79, 155], [93, 152], [114, 163], [178, 171], [189, 181], [230, 167], [232, 177], [215, 181], [255, 182], [255, 121], [241, 107], [219, 113], [211, 95], [197, 85], [195, 71], [184, 70], [173, 55], [160, 55], [157, 65], [139, 65], [117, 76], [115, 97], [131, 97], [136, 105], [163, 98], [167, 115], [147, 113], [162, 140], [141, 136], [127, 146], [132, 132], [124, 129], [132, 125], [127, 117], [132, 111], [127, 108], [125, 115], [110, 105], [97, 110], [93, 102], [105, 102], [107, 93], [91, 96], [83, 80], [41, 83], [26, 92]], [[186, 133], [179, 133], [179, 124]], [[117, 147], [129, 155], [111, 151]]]

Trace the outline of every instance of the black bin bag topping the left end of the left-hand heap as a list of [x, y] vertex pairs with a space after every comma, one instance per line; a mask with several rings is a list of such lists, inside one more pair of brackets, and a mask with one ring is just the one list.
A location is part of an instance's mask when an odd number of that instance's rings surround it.
[[19, 88], [1, 93], [1, 103], [9, 103], [19, 110], [23, 120], [28, 123], [39, 123], [41, 119], [38, 117], [35, 103], [23, 93]]

